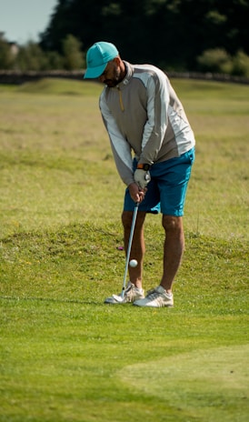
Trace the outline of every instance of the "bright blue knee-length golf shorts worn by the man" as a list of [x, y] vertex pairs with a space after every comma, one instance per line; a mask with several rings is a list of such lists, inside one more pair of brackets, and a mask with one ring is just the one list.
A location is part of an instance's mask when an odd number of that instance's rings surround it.
[[[194, 148], [182, 156], [151, 166], [151, 181], [139, 211], [162, 213], [167, 216], [184, 216], [184, 202], [188, 181], [194, 163]], [[134, 169], [136, 168], [134, 159]], [[134, 210], [134, 200], [125, 189], [124, 211]]]

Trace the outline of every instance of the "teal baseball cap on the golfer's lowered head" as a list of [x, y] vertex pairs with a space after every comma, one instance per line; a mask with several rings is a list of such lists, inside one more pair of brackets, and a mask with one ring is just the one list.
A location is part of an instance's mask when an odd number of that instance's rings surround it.
[[110, 60], [119, 55], [112, 43], [100, 41], [92, 45], [86, 53], [86, 72], [84, 79], [96, 78], [103, 74]]

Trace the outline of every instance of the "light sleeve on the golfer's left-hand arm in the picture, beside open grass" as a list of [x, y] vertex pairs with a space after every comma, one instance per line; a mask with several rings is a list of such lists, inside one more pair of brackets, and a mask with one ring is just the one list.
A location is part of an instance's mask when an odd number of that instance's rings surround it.
[[115, 118], [105, 102], [105, 94], [100, 96], [100, 112], [105, 124], [106, 131], [110, 138], [110, 143], [115, 158], [115, 166], [119, 176], [126, 186], [134, 183], [132, 149], [125, 137], [120, 132], [115, 123]]

